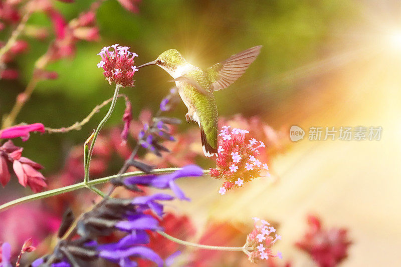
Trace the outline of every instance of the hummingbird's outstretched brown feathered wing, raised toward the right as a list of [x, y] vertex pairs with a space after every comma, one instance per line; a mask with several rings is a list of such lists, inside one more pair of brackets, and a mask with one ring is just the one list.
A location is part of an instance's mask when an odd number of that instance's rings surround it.
[[240, 78], [259, 55], [261, 48], [262, 46], [256, 46], [247, 49], [209, 68], [209, 72], [218, 72], [217, 80], [212, 84], [212, 90], [225, 89]]

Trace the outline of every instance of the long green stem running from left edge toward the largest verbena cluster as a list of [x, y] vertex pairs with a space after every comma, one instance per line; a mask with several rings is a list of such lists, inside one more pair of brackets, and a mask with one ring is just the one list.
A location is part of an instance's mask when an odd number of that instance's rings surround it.
[[[180, 168], [155, 169], [151, 173], [152, 174], [171, 173], [171, 172], [174, 172], [179, 169]], [[204, 173], [205, 174], [209, 173], [209, 170], [204, 170]], [[24, 196], [24, 197], [12, 200], [10, 202], [7, 202], [3, 205], [0, 205], [0, 212], [4, 211], [6, 209], [9, 209], [13, 206], [25, 203], [25, 202], [42, 199], [42, 198], [46, 198], [46, 197], [50, 197], [50, 196], [55, 196], [55, 195], [59, 195], [59, 194], [66, 193], [66, 192], [71, 192], [71, 191], [74, 191], [77, 189], [85, 188], [87, 186], [93, 186], [96, 184], [106, 183], [113, 178], [128, 177], [128, 176], [141, 176], [141, 175], [146, 175], [146, 173], [144, 173], [143, 171], [132, 171], [132, 172], [124, 173], [124, 174], [115, 174], [115, 175], [91, 180], [86, 185], [85, 185], [85, 182], [80, 182], [80, 183], [76, 183], [73, 185], [68, 185], [68, 186], [64, 186], [61, 188], [56, 188], [56, 189], [48, 190], [45, 192], [40, 192], [40, 193], [32, 194], [29, 196]]]

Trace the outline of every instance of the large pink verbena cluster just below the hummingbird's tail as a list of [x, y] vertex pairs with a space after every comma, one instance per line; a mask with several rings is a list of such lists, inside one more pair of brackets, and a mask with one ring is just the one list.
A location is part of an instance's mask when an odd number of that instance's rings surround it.
[[229, 132], [229, 128], [230, 126], [224, 126], [220, 131], [222, 138], [217, 150], [217, 167], [210, 169], [211, 177], [225, 180], [219, 190], [222, 195], [227, 190], [241, 187], [253, 178], [263, 176], [263, 170], [269, 170], [266, 163], [257, 159], [258, 148], [265, 147], [263, 142], [256, 141], [255, 138], [246, 140], [248, 131], [234, 128]]

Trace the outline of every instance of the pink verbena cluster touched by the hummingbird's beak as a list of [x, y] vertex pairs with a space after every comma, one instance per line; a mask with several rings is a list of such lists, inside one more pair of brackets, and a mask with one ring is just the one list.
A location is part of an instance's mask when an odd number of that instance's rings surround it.
[[[114, 51], [109, 51], [113, 48]], [[128, 51], [129, 47], [122, 47], [115, 44], [111, 47], [104, 47], [98, 54], [102, 60], [97, 64], [98, 68], [104, 69], [104, 77], [111, 84], [112, 82], [122, 87], [133, 86], [132, 77], [138, 69], [134, 66], [134, 58], [138, 55]]]

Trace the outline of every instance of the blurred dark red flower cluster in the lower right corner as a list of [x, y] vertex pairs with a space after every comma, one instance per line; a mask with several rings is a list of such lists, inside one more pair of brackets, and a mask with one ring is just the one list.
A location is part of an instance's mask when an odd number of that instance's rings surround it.
[[347, 257], [351, 241], [346, 229], [324, 229], [320, 219], [312, 215], [308, 216], [308, 224], [309, 230], [296, 246], [309, 253], [320, 267], [337, 266]]

